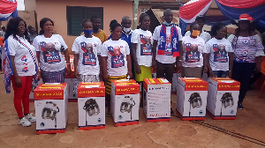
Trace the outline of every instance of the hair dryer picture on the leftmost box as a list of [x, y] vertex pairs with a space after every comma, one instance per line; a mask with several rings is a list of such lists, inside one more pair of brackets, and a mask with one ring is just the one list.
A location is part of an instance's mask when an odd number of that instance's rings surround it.
[[[59, 107], [57, 107], [57, 104], [52, 101], [48, 101], [42, 109], [42, 119], [54, 120], [55, 128], [57, 128], [57, 113], [59, 113]], [[45, 123], [41, 122], [41, 126], [44, 127]]]

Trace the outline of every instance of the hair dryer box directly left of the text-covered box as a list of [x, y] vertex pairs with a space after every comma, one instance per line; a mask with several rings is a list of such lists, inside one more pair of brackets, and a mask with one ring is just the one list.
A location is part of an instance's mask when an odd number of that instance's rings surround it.
[[110, 112], [115, 126], [139, 123], [140, 85], [133, 79], [111, 82]]

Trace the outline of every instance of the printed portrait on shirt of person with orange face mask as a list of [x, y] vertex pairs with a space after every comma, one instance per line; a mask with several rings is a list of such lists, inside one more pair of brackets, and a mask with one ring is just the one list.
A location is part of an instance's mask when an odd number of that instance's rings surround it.
[[197, 44], [186, 43], [186, 62], [196, 63], [200, 61], [201, 52], [198, 51]]

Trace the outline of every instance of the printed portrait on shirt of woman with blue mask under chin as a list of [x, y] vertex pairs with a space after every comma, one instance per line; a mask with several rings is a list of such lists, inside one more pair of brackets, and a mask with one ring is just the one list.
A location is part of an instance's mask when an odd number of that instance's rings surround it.
[[96, 59], [95, 59], [95, 54], [93, 52], [93, 44], [86, 42], [81, 42], [80, 44], [81, 44], [81, 49], [84, 51], [82, 64], [95, 66]]

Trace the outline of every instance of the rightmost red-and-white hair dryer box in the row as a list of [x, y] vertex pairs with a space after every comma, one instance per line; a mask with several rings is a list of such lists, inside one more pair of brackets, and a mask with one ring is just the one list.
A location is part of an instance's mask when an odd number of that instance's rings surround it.
[[236, 119], [240, 83], [231, 78], [208, 79], [208, 115], [213, 119]]

